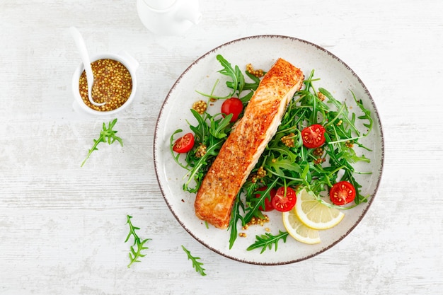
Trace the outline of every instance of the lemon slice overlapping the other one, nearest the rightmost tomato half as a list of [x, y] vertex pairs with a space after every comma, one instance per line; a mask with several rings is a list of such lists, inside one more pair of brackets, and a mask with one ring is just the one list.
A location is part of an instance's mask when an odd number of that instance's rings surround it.
[[313, 193], [304, 188], [297, 193], [294, 211], [300, 221], [311, 229], [330, 229], [345, 216], [340, 210], [318, 202]]

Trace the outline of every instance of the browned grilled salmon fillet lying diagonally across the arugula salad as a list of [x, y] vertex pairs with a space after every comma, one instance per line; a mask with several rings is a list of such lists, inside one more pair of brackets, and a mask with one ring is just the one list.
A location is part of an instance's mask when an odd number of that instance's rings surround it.
[[226, 229], [236, 195], [277, 132], [282, 115], [304, 75], [278, 59], [263, 76], [222, 149], [209, 168], [195, 197], [195, 214], [219, 229]]

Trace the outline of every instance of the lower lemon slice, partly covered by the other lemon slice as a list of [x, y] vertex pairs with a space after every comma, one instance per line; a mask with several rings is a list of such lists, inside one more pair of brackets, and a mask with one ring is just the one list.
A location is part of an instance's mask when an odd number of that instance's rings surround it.
[[295, 209], [282, 212], [282, 216], [284, 228], [292, 238], [305, 244], [318, 244], [321, 242], [318, 231], [302, 224], [297, 214], [295, 214]]

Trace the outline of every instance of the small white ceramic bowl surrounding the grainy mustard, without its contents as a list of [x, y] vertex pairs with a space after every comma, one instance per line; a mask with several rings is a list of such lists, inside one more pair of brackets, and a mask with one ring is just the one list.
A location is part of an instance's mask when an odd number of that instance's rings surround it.
[[84, 64], [81, 63], [74, 71], [74, 75], [72, 76], [72, 93], [74, 94], [74, 103], [72, 104], [72, 106], [74, 110], [84, 111], [91, 115], [100, 115], [100, 116], [113, 115], [117, 112], [125, 110], [125, 108], [127, 108], [132, 103], [132, 100], [134, 100], [134, 96], [137, 90], [137, 77], [135, 73], [139, 67], [139, 62], [137, 62], [137, 60], [134, 59], [134, 57], [130, 56], [130, 54], [128, 54], [125, 51], [119, 52], [118, 54], [107, 53], [107, 52], [96, 54], [93, 57], [91, 57], [91, 63], [95, 62], [98, 59], [113, 59], [116, 60], [117, 62], [121, 62], [127, 68], [127, 70], [130, 72], [132, 79], [132, 91], [130, 97], [123, 105], [120, 106], [120, 108], [116, 108], [115, 110], [101, 111], [89, 108], [88, 105], [86, 105], [83, 99], [81, 98], [79, 91], [79, 79], [81, 73], [83, 73], [84, 71]]

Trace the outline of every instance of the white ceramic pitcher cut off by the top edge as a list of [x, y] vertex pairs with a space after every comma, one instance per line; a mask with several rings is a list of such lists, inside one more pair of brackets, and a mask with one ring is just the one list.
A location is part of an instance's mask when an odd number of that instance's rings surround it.
[[181, 35], [202, 19], [198, 0], [137, 0], [137, 13], [159, 35]]

